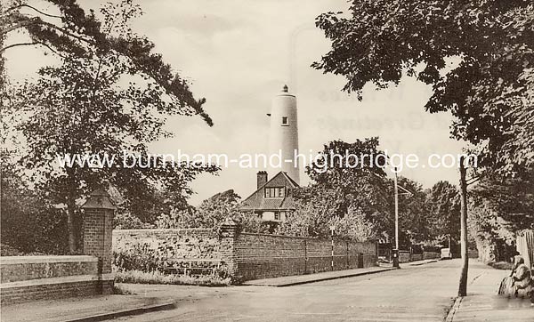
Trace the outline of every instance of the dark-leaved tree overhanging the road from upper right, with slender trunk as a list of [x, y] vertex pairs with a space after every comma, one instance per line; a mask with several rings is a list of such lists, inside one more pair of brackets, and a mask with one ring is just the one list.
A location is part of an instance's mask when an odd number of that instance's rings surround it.
[[[533, 90], [531, 1], [353, 0], [349, 13], [318, 17], [332, 50], [313, 67], [345, 76], [344, 90], [360, 99], [368, 83], [384, 88], [403, 74], [416, 76], [433, 86], [425, 109], [449, 111], [452, 135], [480, 145], [482, 165], [511, 173], [534, 163], [525, 141], [534, 128], [518, 126], [532, 125], [524, 100]], [[447, 66], [451, 58], [457, 64]], [[462, 175], [463, 201], [466, 183]], [[465, 296], [466, 266], [461, 278], [458, 294]]]

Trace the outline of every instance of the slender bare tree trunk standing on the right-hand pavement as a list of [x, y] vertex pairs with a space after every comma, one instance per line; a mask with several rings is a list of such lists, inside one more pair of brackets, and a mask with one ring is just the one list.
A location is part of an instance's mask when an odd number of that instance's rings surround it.
[[462, 271], [460, 273], [460, 285], [458, 296], [467, 295], [467, 270], [469, 258], [467, 257], [467, 181], [465, 180], [464, 157], [460, 157], [460, 240], [462, 254]]

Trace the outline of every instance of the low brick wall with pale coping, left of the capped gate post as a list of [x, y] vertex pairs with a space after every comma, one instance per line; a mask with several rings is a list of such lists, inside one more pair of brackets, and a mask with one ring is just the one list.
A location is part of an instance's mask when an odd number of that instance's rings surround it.
[[0, 261], [2, 304], [102, 291], [93, 256], [3, 256]]

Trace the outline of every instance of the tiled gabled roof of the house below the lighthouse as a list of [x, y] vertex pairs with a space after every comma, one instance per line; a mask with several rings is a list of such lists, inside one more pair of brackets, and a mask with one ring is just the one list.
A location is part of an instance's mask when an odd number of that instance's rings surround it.
[[[269, 187], [287, 187], [287, 193], [283, 198], [265, 198], [263, 189]], [[298, 188], [299, 185], [287, 175], [280, 171], [270, 181], [265, 182], [263, 186], [256, 189], [254, 193], [241, 202], [240, 210], [293, 210], [295, 209], [295, 200], [292, 196], [291, 189]]]

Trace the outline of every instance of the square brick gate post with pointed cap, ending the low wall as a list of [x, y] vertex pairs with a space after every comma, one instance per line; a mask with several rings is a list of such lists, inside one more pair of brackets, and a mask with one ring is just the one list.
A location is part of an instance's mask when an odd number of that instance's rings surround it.
[[96, 189], [84, 205], [83, 254], [98, 257], [99, 290], [101, 294], [113, 292], [111, 273], [112, 230], [115, 205], [109, 200], [108, 192]]

